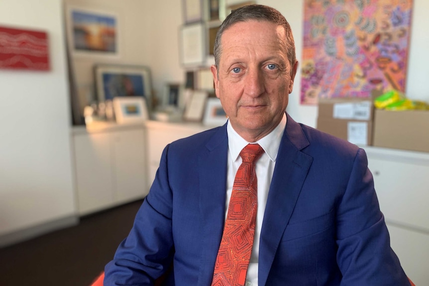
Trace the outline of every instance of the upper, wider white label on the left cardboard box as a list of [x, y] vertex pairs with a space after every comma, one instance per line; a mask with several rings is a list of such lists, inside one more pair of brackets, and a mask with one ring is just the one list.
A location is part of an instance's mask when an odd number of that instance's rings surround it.
[[369, 120], [371, 118], [371, 101], [335, 103], [333, 118]]

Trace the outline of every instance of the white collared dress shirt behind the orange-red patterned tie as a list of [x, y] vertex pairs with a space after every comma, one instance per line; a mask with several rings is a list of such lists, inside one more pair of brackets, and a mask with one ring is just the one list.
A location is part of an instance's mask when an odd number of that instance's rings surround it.
[[[231, 197], [232, 185], [234, 184], [235, 173], [241, 164], [240, 152], [249, 143], [258, 143], [264, 153], [256, 162], [256, 178], [258, 181], [258, 211], [256, 215], [255, 238], [253, 241], [252, 254], [250, 256], [249, 268], [247, 270], [246, 286], [258, 285], [258, 257], [259, 257], [259, 236], [261, 234], [262, 220], [264, 218], [265, 205], [267, 203], [268, 191], [276, 165], [277, 153], [280, 141], [286, 127], [286, 114], [277, 127], [265, 137], [257, 142], [247, 142], [227, 123], [228, 134], [228, 165], [227, 165], [227, 186], [226, 186], [226, 212], [228, 211], [229, 199]], [[226, 218], [226, 214], [225, 214]]]

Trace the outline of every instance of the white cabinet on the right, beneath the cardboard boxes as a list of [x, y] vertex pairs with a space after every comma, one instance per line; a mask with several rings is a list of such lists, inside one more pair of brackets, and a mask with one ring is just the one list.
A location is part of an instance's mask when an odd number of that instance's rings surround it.
[[364, 148], [392, 249], [416, 285], [429, 285], [429, 154]]

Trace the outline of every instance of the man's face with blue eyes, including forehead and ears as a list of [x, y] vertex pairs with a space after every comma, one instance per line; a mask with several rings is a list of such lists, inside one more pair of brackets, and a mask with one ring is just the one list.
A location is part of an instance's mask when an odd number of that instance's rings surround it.
[[297, 63], [289, 64], [285, 30], [266, 21], [235, 23], [224, 31], [219, 67], [212, 66], [216, 96], [234, 130], [249, 142], [281, 121]]

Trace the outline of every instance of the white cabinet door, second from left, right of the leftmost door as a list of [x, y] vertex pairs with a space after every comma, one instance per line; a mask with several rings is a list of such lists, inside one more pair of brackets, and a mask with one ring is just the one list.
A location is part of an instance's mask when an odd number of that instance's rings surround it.
[[143, 198], [148, 193], [144, 129], [111, 133], [116, 202]]

